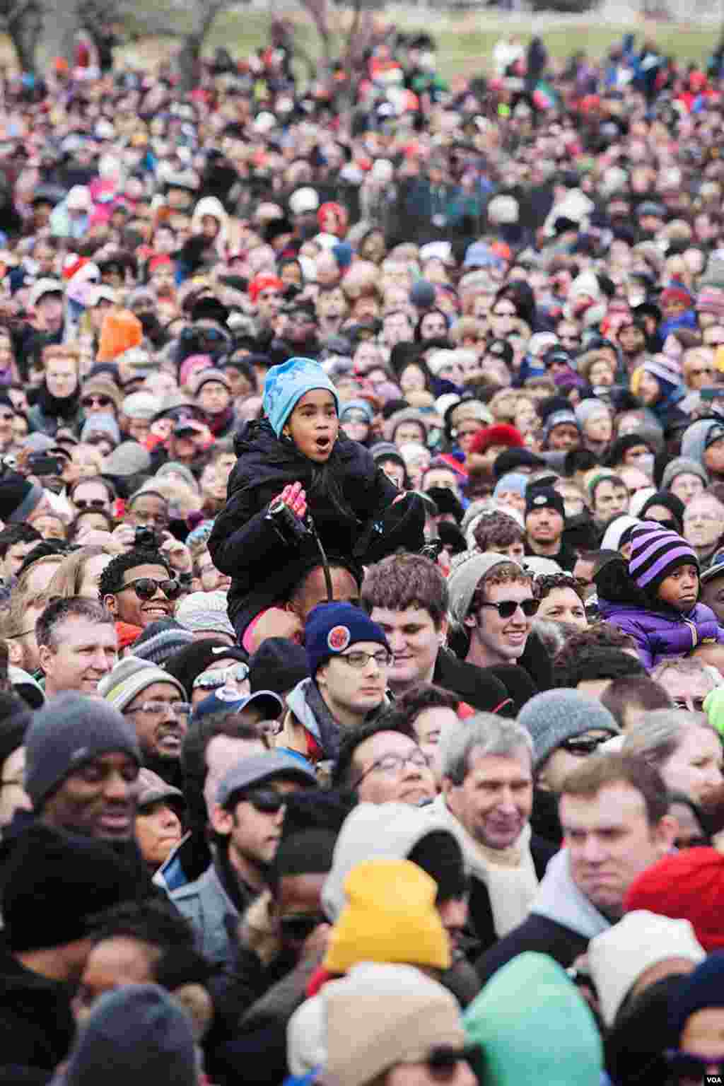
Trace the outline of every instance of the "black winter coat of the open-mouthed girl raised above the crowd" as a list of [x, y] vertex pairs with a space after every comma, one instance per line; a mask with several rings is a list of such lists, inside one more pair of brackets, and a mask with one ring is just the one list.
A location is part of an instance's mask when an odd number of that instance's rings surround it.
[[[399, 492], [356, 441], [338, 438], [325, 466], [277, 438], [266, 419], [252, 421], [236, 441], [239, 457], [229, 477], [227, 503], [208, 540], [214, 565], [231, 578], [229, 617], [239, 639], [261, 610], [288, 598], [301, 558], [319, 557], [312, 535], [290, 542], [267, 517], [269, 503], [289, 483], [302, 482], [307, 508], [328, 557], [379, 561], [398, 547], [422, 546], [422, 500]], [[351, 508], [344, 515], [329, 497], [326, 478], [333, 473]]]

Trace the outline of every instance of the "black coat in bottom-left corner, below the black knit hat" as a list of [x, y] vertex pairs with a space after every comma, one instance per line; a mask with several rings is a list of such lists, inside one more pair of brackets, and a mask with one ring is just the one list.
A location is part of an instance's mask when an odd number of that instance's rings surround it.
[[20, 1069], [28, 1082], [50, 1082], [75, 1034], [69, 989], [25, 969], [3, 946], [0, 993], [0, 1082]]

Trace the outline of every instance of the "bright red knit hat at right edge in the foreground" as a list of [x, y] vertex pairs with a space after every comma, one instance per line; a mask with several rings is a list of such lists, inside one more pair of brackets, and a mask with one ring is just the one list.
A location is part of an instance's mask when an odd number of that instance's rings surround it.
[[624, 909], [688, 920], [709, 952], [724, 947], [723, 901], [724, 856], [715, 848], [687, 848], [642, 872], [628, 887]]

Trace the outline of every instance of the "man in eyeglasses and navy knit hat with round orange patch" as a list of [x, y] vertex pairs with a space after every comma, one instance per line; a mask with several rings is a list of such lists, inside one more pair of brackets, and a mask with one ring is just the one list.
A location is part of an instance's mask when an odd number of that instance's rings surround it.
[[380, 627], [354, 604], [318, 604], [304, 631], [309, 679], [289, 694], [277, 746], [312, 761], [336, 759], [340, 735], [386, 705], [392, 653]]

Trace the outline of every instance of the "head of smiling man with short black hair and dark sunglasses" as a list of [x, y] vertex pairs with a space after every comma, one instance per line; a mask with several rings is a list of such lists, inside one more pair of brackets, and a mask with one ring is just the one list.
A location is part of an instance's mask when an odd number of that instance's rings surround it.
[[101, 573], [99, 595], [116, 620], [145, 629], [170, 618], [180, 591], [158, 551], [132, 550], [118, 555]]

